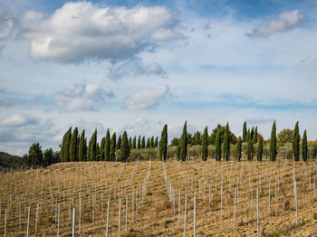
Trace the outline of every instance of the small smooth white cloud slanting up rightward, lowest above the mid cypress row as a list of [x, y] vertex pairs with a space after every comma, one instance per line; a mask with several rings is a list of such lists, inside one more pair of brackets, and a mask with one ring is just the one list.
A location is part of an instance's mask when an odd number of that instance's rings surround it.
[[168, 86], [140, 90], [126, 98], [126, 107], [128, 109], [152, 109], [159, 105], [159, 100], [167, 95], [168, 90]]

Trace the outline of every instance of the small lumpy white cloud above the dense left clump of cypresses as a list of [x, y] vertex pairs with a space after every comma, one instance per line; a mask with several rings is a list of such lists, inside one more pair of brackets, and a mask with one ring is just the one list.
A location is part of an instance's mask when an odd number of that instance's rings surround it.
[[112, 90], [95, 84], [74, 84], [72, 88], [53, 94], [56, 105], [66, 111], [98, 110], [103, 102], [112, 97]]

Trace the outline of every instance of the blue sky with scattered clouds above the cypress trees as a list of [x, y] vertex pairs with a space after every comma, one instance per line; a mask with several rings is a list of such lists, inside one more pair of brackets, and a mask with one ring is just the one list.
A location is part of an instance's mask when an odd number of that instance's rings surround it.
[[72, 126], [317, 137], [317, 1], [0, 0], [0, 151]]

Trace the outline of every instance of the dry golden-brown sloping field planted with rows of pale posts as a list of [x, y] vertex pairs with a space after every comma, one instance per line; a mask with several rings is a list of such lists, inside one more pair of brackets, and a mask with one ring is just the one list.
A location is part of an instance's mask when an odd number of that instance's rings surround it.
[[110, 200], [108, 236], [118, 236], [119, 213], [122, 236], [184, 236], [187, 194], [187, 236], [194, 233], [194, 196], [197, 236], [256, 236], [259, 189], [259, 236], [317, 236], [316, 167], [315, 161], [295, 164], [297, 224], [291, 160], [85, 162], [5, 173], [0, 176], [0, 234], [6, 209], [6, 235], [25, 236], [31, 206], [29, 232], [34, 236], [38, 206], [36, 235], [56, 236], [60, 206], [61, 236], [72, 236], [72, 208], [76, 236], [105, 236]]

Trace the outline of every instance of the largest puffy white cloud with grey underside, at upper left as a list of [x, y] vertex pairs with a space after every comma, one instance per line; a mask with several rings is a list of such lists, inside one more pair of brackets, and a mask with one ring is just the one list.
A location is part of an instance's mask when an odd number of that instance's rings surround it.
[[84, 62], [122, 60], [181, 38], [177, 14], [164, 6], [104, 7], [91, 2], [66, 3], [52, 17], [29, 24], [35, 60]]

